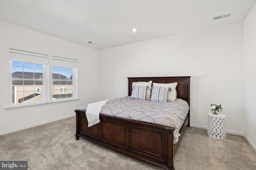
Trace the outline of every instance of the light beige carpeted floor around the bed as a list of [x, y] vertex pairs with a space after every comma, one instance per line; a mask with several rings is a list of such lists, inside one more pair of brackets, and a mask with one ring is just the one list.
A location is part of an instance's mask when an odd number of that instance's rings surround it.
[[[28, 160], [29, 170], [163, 170], [80, 138], [76, 118], [0, 136], [0, 160]], [[242, 136], [208, 137], [189, 127], [174, 158], [176, 170], [255, 170], [256, 152]]]

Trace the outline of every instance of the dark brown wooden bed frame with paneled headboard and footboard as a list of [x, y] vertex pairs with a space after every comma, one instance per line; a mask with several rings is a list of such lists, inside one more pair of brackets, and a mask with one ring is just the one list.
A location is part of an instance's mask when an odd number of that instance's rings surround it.
[[[128, 95], [132, 94], [132, 82], [157, 83], [178, 82], [178, 98], [190, 105], [190, 76], [182, 77], [137, 77], [128, 78]], [[98, 143], [104, 147], [144, 160], [166, 170], [174, 170], [173, 158], [186, 127], [190, 114], [186, 117], [179, 133], [179, 141], [173, 145], [174, 127], [134, 121], [100, 114], [100, 123], [88, 127], [85, 111], [76, 109], [76, 140], [79, 137]]]

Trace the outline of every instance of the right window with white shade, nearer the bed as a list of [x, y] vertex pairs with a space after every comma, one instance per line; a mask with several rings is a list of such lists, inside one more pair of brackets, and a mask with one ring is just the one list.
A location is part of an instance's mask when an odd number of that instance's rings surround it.
[[52, 57], [52, 98], [53, 100], [75, 97], [76, 60]]

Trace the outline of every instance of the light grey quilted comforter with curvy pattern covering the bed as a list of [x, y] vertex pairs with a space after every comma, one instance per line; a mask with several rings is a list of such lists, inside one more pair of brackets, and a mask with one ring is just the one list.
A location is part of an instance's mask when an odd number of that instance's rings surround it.
[[[86, 110], [87, 105], [81, 109]], [[154, 102], [136, 100], [130, 96], [116, 98], [107, 102], [100, 113], [136, 121], [144, 121], [175, 127], [174, 143], [178, 142], [179, 130], [188, 114], [188, 103], [181, 99], [174, 102]]]

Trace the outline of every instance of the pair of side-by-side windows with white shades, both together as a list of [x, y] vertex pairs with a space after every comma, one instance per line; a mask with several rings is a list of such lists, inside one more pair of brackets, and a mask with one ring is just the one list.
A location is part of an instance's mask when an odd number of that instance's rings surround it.
[[10, 49], [10, 106], [76, 99], [76, 60], [47, 60], [48, 55]]

